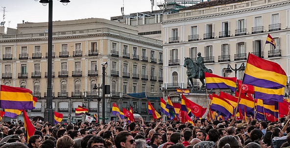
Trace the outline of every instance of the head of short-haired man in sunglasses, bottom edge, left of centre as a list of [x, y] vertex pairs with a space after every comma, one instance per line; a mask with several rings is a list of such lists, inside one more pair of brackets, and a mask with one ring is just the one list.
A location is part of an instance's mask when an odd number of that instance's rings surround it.
[[133, 148], [135, 147], [136, 142], [132, 134], [126, 131], [121, 131], [115, 137], [115, 146], [116, 148]]

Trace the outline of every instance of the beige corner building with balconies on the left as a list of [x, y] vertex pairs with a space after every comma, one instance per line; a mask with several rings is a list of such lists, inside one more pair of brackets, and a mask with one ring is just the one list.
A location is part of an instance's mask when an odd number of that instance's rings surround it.
[[[24, 23], [18, 24], [17, 30], [7, 30], [14, 34], [0, 35], [1, 84], [32, 90], [38, 102], [31, 117], [44, 116], [46, 108], [47, 28], [48, 23]], [[110, 85], [106, 121], [113, 102], [120, 109], [133, 105], [132, 100], [121, 101], [124, 93], [158, 93], [163, 81], [161, 44], [138, 35], [135, 26], [105, 19], [53, 22], [53, 109], [64, 114], [64, 121], [74, 117], [78, 105], [85, 104], [91, 114], [97, 113], [98, 90], [94, 86], [102, 83], [103, 62], [108, 63], [105, 84]], [[141, 112], [138, 105], [144, 104], [135, 104], [136, 113]]]

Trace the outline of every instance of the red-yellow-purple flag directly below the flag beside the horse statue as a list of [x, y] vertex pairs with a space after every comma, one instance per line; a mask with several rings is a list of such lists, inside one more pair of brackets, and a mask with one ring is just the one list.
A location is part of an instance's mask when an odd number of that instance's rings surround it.
[[229, 101], [223, 99], [216, 94], [213, 94], [213, 100], [211, 102], [212, 111], [220, 113], [221, 116], [230, 118], [234, 113], [234, 107]]

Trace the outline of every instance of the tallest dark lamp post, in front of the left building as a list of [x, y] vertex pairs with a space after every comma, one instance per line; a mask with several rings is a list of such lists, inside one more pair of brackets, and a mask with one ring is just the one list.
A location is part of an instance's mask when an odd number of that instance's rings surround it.
[[[40, 0], [40, 3], [47, 5], [48, 3], [48, 88], [47, 88], [47, 108], [45, 110], [45, 120], [53, 123], [54, 112], [52, 109], [52, 0]], [[63, 4], [71, 2], [70, 0], [60, 0]]]

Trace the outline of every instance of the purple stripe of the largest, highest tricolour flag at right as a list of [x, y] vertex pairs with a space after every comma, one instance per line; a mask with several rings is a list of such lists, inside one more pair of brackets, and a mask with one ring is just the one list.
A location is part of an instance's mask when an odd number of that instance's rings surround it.
[[276, 83], [276, 82], [273, 82], [273, 81], [269, 81], [269, 80], [266, 80], [266, 79], [256, 78], [256, 77], [253, 77], [253, 76], [248, 75], [248, 74], [244, 74], [242, 80], [243, 80], [242, 81], [243, 84], [249, 84], [249, 85], [262, 87], [262, 88], [279, 89], [279, 88], [283, 88], [284, 87], [284, 85], [281, 85], [279, 83]]

